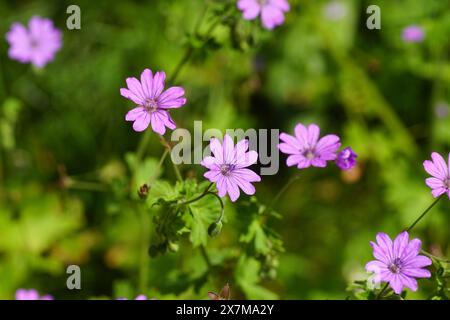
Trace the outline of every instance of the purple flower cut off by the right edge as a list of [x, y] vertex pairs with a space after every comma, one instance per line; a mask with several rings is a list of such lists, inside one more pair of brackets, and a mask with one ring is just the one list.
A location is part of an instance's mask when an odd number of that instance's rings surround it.
[[432, 175], [432, 178], [427, 178], [425, 182], [431, 188], [433, 197], [437, 198], [447, 193], [450, 199], [450, 153], [448, 154], [448, 164], [437, 152], [431, 154], [431, 159], [432, 161], [425, 160], [423, 162], [425, 171]]

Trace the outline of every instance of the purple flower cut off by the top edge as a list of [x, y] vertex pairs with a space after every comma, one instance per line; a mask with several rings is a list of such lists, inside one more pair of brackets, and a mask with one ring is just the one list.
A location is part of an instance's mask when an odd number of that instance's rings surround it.
[[269, 30], [283, 24], [284, 13], [290, 10], [286, 0], [239, 0], [237, 6], [245, 20], [254, 20], [261, 15], [263, 26]]

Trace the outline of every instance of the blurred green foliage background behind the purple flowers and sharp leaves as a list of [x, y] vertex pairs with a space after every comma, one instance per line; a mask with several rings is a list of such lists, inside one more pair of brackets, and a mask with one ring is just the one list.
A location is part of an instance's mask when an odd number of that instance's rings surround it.
[[[376, 232], [395, 236], [432, 202], [422, 162], [450, 146], [448, 1], [291, 0], [286, 23], [271, 32], [235, 8], [196, 47], [205, 3], [200, 34], [222, 2], [0, 0], [0, 298], [23, 287], [57, 299], [206, 299], [228, 282], [233, 298], [344, 299], [349, 283], [367, 278]], [[65, 26], [71, 4], [81, 8], [81, 30]], [[366, 28], [370, 4], [381, 8], [381, 30]], [[63, 48], [39, 71], [10, 60], [3, 36], [33, 15], [63, 31]], [[423, 42], [402, 40], [412, 24], [424, 28]], [[257, 260], [239, 259], [242, 203], [226, 203], [222, 233], [206, 246], [215, 267], [205, 278], [196, 277], [207, 266], [187, 237], [175, 253], [146, 254], [151, 221], [137, 213], [139, 184], [129, 178], [142, 134], [124, 121], [132, 103], [119, 89], [144, 68], [170, 77], [187, 46], [195, 49], [176, 81], [188, 98], [172, 113], [178, 127], [202, 120], [204, 129], [292, 132], [314, 122], [359, 154], [348, 173], [302, 171], [282, 196], [281, 219], [267, 222], [284, 242], [270, 276]], [[162, 152], [152, 135], [141, 176], [153, 174]], [[171, 169], [166, 161], [161, 181], [174, 183]], [[204, 180], [199, 165], [181, 170]], [[297, 173], [281, 156], [257, 197], [268, 204]], [[413, 232], [447, 257], [449, 208], [442, 201]], [[82, 290], [66, 288], [70, 264], [81, 267]], [[419, 286], [408, 298], [435, 287]]]

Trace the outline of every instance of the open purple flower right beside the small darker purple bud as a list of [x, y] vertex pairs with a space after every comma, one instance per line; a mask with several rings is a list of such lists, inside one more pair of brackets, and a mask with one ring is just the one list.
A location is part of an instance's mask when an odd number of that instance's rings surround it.
[[339, 137], [329, 134], [319, 139], [320, 128], [311, 124], [305, 127], [301, 123], [295, 126], [295, 137], [287, 133], [280, 134], [283, 143], [278, 145], [281, 152], [288, 154], [286, 164], [296, 165], [299, 169], [310, 166], [324, 168], [327, 161], [336, 159], [336, 151], [341, 146]]

